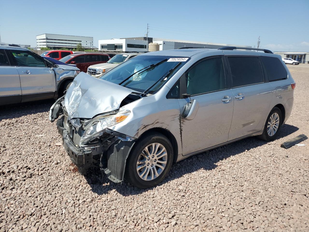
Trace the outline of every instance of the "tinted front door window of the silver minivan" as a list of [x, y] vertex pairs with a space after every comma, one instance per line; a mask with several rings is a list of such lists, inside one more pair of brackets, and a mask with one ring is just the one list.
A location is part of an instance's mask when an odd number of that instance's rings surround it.
[[225, 89], [222, 58], [204, 60], [186, 74], [187, 93], [191, 95]]

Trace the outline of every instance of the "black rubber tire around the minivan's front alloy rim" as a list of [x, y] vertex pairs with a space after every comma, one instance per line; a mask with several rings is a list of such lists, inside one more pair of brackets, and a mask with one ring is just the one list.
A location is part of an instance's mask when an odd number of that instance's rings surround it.
[[[152, 180], [143, 180], [138, 175], [137, 161], [140, 157], [140, 154], [144, 150], [144, 148], [146, 148], [148, 145], [153, 144], [153, 143], [159, 143], [164, 146], [167, 152], [167, 163], [162, 173], [160, 173], [158, 177]], [[159, 184], [163, 180], [163, 178], [166, 176], [166, 174], [171, 169], [172, 163], [173, 163], [173, 147], [171, 145], [171, 142], [167, 139], [167, 137], [160, 133], [148, 134], [145, 137], [138, 140], [136, 144], [134, 144], [134, 147], [132, 148], [129, 154], [129, 157], [127, 159], [126, 165], [125, 165], [125, 179], [129, 183], [131, 183], [132, 185], [138, 188], [153, 187]]]

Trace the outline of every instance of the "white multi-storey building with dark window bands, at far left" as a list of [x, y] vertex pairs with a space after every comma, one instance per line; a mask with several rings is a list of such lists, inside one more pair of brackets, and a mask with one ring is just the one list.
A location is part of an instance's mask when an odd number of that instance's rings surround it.
[[73, 49], [81, 43], [85, 49], [93, 49], [93, 37], [42, 34], [36, 36], [36, 46], [52, 49]]

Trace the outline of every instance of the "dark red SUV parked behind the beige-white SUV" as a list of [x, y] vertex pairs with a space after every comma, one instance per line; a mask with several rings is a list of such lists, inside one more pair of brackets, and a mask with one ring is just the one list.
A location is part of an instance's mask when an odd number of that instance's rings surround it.
[[87, 72], [87, 68], [94, 64], [106, 63], [110, 57], [100, 53], [75, 53], [60, 59], [66, 64], [76, 64], [82, 72]]

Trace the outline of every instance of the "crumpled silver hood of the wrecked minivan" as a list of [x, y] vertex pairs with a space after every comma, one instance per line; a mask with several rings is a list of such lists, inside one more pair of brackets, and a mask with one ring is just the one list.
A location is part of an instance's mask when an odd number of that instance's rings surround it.
[[64, 104], [69, 118], [93, 118], [97, 114], [118, 110], [131, 89], [79, 73], [66, 92]]

